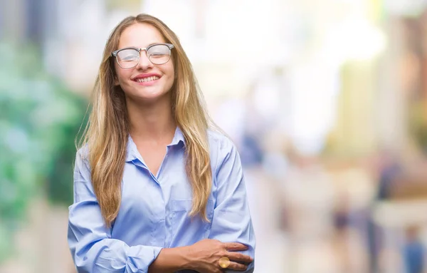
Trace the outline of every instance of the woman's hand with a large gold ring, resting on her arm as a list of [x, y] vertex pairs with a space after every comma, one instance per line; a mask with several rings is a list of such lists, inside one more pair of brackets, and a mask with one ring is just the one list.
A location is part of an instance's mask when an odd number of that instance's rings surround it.
[[253, 259], [238, 250], [246, 250], [248, 247], [238, 242], [220, 242], [216, 239], [204, 239], [189, 246], [189, 260], [191, 269], [200, 273], [221, 273], [223, 268], [219, 266], [221, 257], [228, 257], [230, 265], [227, 269], [244, 271]]

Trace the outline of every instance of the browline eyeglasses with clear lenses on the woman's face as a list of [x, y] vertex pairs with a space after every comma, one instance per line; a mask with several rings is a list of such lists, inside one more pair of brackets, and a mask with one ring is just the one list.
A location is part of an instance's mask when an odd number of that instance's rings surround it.
[[145, 51], [147, 58], [153, 64], [164, 64], [171, 58], [171, 49], [174, 48], [172, 43], [154, 43], [147, 48], [127, 47], [111, 53], [116, 58], [121, 68], [134, 68], [139, 63], [139, 54]]

